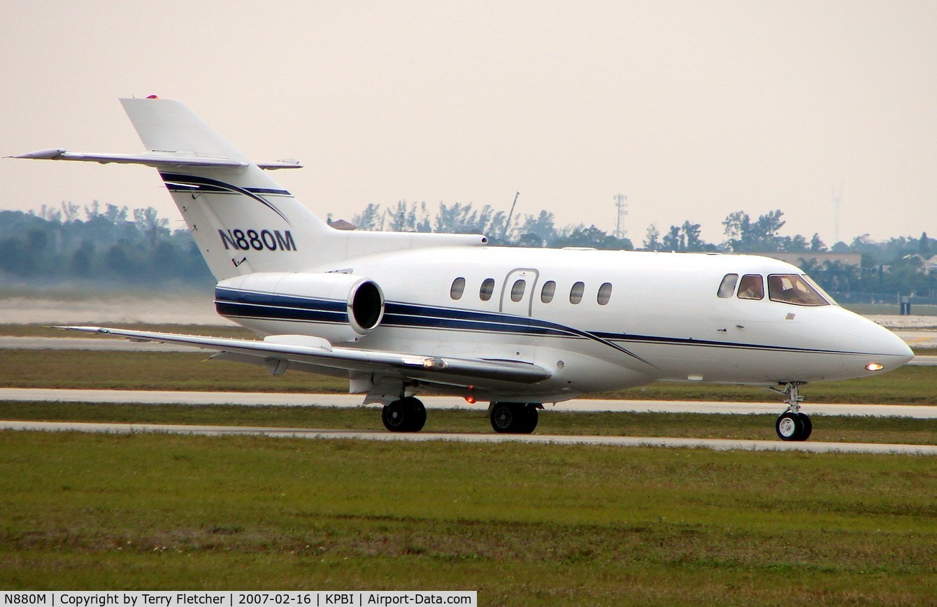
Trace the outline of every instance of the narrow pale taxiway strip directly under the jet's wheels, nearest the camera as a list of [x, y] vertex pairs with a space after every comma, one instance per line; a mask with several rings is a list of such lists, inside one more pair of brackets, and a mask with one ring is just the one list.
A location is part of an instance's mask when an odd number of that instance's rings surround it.
[[262, 428], [144, 423], [78, 422], [0, 422], [0, 429], [45, 432], [89, 432], [100, 434], [136, 434], [154, 432], [207, 437], [252, 435], [275, 438], [317, 438], [355, 440], [449, 440], [467, 443], [523, 442], [547, 445], [604, 445], [611, 447], [700, 448], [714, 451], [751, 452], [838, 452], [937, 455], [935, 445], [890, 445], [876, 443], [784, 442], [781, 440], [728, 440], [707, 438], [659, 437], [575, 437], [557, 435], [499, 435], [465, 433], [393, 433], [306, 428]]

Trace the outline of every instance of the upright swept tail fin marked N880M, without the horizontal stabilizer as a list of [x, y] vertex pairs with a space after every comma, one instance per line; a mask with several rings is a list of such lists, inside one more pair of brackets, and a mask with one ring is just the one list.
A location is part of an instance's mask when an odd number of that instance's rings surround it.
[[[121, 99], [159, 175], [218, 280], [254, 272], [302, 270], [337, 237], [257, 163], [186, 105]], [[194, 158], [172, 165], [172, 157]], [[198, 159], [206, 164], [196, 164]]]

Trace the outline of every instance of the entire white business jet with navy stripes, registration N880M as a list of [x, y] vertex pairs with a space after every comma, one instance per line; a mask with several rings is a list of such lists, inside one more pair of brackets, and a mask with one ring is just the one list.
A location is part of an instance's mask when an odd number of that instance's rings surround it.
[[155, 167], [218, 280], [218, 314], [262, 341], [69, 329], [347, 377], [392, 432], [423, 428], [425, 391], [490, 402], [497, 432], [530, 433], [543, 403], [665, 380], [771, 387], [778, 436], [805, 440], [803, 384], [913, 358], [775, 259], [332, 229], [264, 172], [298, 164], [251, 161], [178, 101], [121, 103], [147, 152], [15, 157]]

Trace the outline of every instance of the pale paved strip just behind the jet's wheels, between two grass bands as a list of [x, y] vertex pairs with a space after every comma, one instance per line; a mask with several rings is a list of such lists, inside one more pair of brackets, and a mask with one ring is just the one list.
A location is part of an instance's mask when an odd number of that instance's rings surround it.
[[[484, 411], [487, 403], [469, 404], [456, 396], [421, 396], [428, 409], [460, 408]], [[53, 390], [48, 388], [0, 388], [0, 401], [45, 403], [105, 403], [139, 405], [237, 405], [241, 407], [361, 407], [361, 394], [308, 394], [275, 392], [170, 392], [133, 390]], [[699, 401], [605, 400], [579, 398], [557, 405], [557, 411], [615, 411], [647, 413], [722, 413], [778, 415], [781, 400], [766, 403], [726, 403]], [[811, 415], [860, 415], [871, 417], [910, 417], [937, 419], [937, 406], [930, 405], [811, 405]]]

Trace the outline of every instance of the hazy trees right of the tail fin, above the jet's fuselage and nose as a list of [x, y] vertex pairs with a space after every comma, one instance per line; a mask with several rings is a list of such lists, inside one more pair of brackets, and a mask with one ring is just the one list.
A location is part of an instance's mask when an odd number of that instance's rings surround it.
[[[661, 231], [655, 225], [647, 228], [640, 248], [647, 251], [720, 252], [720, 253], [803, 253], [801, 267], [826, 290], [844, 302], [893, 303], [898, 293], [915, 294], [919, 300], [930, 298], [937, 304], [937, 272], [927, 272], [927, 260], [937, 255], [937, 240], [927, 232], [919, 237], [890, 238], [874, 242], [869, 234], [855, 237], [850, 244], [827, 245], [818, 233], [810, 238], [801, 234], [782, 236], [786, 222], [780, 209], [754, 218], [744, 211], [731, 213], [722, 220], [724, 240], [707, 243], [702, 226], [684, 221]], [[633, 250], [632, 241], [616, 238], [594, 225], [558, 227], [552, 213], [520, 215], [509, 218], [502, 211], [485, 205], [475, 209], [472, 204], [439, 204], [436, 215], [429, 215], [426, 204], [398, 201], [387, 209], [368, 204], [354, 215], [352, 223], [359, 229], [392, 229], [402, 231], [468, 232], [486, 234], [493, 244], [508, 246], [589, 246], [601, 249]], [[856, 253], [861, 265], [838, 260], [817, 260], [817, 253]], [[823, 257], [823, 256], [818, 256]]]

